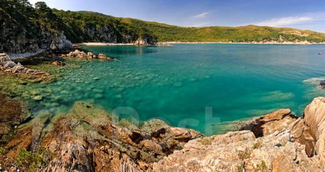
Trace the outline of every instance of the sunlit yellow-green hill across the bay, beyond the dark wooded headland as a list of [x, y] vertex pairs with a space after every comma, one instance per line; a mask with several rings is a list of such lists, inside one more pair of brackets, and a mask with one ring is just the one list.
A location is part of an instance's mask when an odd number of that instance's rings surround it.
[[267, 26], [240, 27], [179, 27], [163, 23], [147, 22], [132, 18], [121, 18], [123, 23], [141, 26], [157, 35], [158, 41], [201, 41], [201, 42], [247, 42], [263, 40], [283, 41], [308, 40], [310, 42], [325, 41], [325, 33], [293, 28], [275, 28]]

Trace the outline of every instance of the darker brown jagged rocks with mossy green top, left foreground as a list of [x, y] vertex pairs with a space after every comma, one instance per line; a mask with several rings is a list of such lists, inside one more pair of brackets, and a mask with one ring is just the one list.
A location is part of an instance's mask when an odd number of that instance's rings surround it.
[[[49, 120], [52, 124], [46, 128]], [[32, 152], [33, 145], [40, 145], [53, 155], [35, 162], [40, 165], [33, 168], [42, 171], [145, 171], [189, 140], [202, 137], [194, 130], [155, 119], [141, 127], [125, 121], [123, 126], [113, 115], [94, 108], [93, 102], [76, 102], [68, 114], [51, 119], [45, 113], [19, 130], [4, 146], [6, 159], [0, 157], [0, 162], [9, 169], [19, 150]], [[18, 168], [31, 167], [26, 163]]]

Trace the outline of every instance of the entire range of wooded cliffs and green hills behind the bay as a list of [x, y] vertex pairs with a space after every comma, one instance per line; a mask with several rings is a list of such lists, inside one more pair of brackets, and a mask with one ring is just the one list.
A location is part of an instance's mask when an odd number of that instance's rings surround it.
[[[257, 42], [299, 43], [325, 41], [325, 34], [293, 28], [266, 26], [179, 27], [96, 12], [50, 9], [39, 2], [2, 0], [0, 3], [0, 52], [24, 53], [41, 49], [69, 49], [71, 42], [142, 43]], [[71, 42], [70, 42], [71, 41]], [[307, 42], [307, 43], [308, 43]]]

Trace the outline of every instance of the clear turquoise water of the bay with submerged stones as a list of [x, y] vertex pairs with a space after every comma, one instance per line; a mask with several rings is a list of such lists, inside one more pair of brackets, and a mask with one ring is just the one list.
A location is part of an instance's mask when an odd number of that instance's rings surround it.
[[310, 79], [325, 76], [325, 56], [317, 55], [325, 51], [324, 45], [84, 49], [118, 60], [76, 61], [81, 68], [67, 71], [46, 85], [51, 96], [39, 106], [69, 109], [75, 101], [94, 99], [108, 111], [132, 107], [140, 120], [161, 118], [205, 133], [205, 107], [212, 107], [217, 119], [209, 122], [238, 120], [279, 108], [301, 115], [313, 97], [324, 95], [315, 79]]

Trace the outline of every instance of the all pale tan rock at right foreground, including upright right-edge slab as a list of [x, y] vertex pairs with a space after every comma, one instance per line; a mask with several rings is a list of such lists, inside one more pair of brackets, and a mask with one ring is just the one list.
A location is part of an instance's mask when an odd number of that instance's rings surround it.
[[247, 124], [251, 131], [191, 140], [153, 171], [325, 170], [325, 98], [315, 98], [304, 118], [280, 109]]

